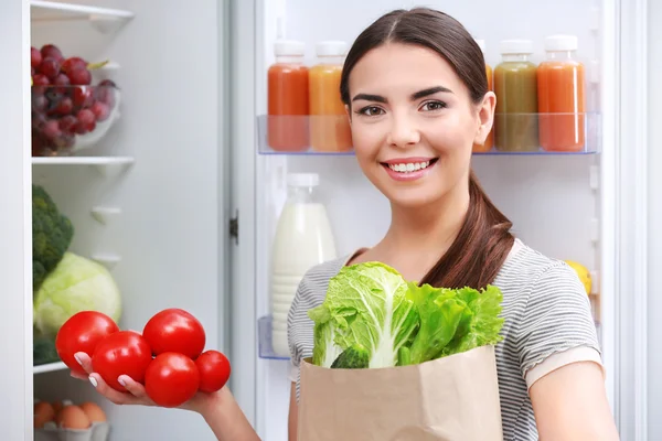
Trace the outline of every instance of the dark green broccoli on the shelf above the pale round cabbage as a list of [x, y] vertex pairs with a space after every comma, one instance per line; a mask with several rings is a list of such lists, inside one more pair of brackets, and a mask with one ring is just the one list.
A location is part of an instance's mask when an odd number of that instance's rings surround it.
[[36, 292], [60, 263], [74, 237], [72, 222], [57, 209], [49, 193], [32, 185], [32, 287]]

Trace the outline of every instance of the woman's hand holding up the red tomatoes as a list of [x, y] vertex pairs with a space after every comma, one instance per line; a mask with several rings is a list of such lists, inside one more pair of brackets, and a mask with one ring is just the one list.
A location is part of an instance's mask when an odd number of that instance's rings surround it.
[[[92, 359], [87, 354], [79, 352], [75, 354], [75, 357], [88, 375], [81, 375], [72, 372], [71, 376], [85, 381], [88, 380], [96, 388], [96, 390], [106, 397], [110, 402], [119, 406], [158, 406], [154, 401], [152, 401], [151, 398], [147, 396], [145, 386], [138, 381], [134, 381], [134, 379], [128, 375], [120, 375], [117, 379], [119, 384], [127, 389], [126, 392], [120, 392], [108, 386], [99, 374], [93, 372]], [[184, 402], [179, 408], [203, 413], [207, 408], [213, 406], [213, 402], [216, 398], [217, 394], [197, 392], [193, 398]]]

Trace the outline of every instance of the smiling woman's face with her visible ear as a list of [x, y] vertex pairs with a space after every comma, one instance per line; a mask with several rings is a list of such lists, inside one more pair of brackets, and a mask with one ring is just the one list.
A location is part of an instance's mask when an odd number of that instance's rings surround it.
[[439, 54], [398, 43], [366, 53], [349, 89], [356, 159], [393, 204], [418, 207], [467, 191], [472, 146], [492, 125], [493, 94], [472, 103]]

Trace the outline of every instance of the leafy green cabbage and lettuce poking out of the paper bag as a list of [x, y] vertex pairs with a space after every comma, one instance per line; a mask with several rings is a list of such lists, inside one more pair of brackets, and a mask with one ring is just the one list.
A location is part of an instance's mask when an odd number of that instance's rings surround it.
[[331, 367], [350, 347], [366, 351], [370, 368], [405, 366], [501, 342], [499, 288], [447, 289], [407, 282], [380, 262], [344, 267], [324, 302], [310, 310], [312, 363]]

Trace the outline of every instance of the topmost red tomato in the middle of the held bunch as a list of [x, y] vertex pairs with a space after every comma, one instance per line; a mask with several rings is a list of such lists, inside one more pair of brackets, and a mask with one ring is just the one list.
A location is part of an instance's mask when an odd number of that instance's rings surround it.
[[142, 330], [154, 355], [177, 352], [191, 359], [204, 349], [205, 334], [202, 324], [184, 310], [171, 308], [152, 316]]

